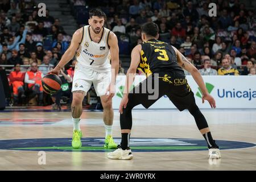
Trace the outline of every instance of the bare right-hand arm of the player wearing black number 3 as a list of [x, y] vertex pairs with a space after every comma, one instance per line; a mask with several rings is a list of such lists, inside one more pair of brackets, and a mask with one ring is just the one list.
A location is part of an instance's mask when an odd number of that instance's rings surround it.
[[204, 100], [207, 100], [209, 102], [210, 106], [212, 108], [213, 107], [215, 108], [216, 105], [215, 105], [214, 98], [212, 96], [210, 96], [210, 94], [208, 93], [208, 90], [204, 84], [204, 80], [203, 80], [203, 77], [201, 76], [200, 72], [196, 69], [196, 67], [193, 64], [191, 64], [187, 60], [187, 58], [185, 58], [185, 56], [182, 55], [182, 53], [180, 53], [180, 51], [178, 51], [175, 47], [173, 47], [173, 48], [175, 49], [175, 52], [177, 55], [177, 62], [180, 65], [180, 67], [182, 67], [183, 69], [185, 69], [189, 73], [191, 73], [192, 77], [194, 78], [197, 85], [201, 89], [201, 91], [203, 93], [203, 97], [202, 97], [203, 103], [204, 103]]

